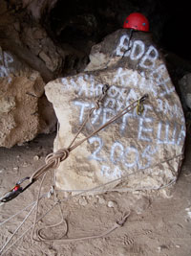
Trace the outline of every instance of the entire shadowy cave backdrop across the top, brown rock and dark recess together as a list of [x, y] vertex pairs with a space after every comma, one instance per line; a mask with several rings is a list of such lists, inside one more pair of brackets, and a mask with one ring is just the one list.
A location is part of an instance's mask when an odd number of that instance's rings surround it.
[[93, 45], [142, 12], [161, 48], [189, 60], [187, 2], [164, 0], [2, 0], [0, 45], [39, 71], [45, 81], [83, 70]]

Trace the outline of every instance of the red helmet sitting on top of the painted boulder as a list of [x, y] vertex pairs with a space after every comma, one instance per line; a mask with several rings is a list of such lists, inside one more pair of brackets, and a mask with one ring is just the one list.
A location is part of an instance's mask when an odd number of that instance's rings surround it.
[[131, 13], [126, 17], [123, 29], [134, 29], [137, 31], [149, 31], [149, 21], [148, 19], [139, 12]]

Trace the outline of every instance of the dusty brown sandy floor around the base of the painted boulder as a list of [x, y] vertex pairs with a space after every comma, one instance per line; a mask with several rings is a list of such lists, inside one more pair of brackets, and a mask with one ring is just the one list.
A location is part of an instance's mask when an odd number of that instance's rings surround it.
[[[45, 156], [53, 151], [55, 134], [41, 135], [24, 146], [0, 148], [0, 195], [17, 180], [44, 163]], [[64, 218], [68, 222], [70, 237], [97, 234], [113, 226], [124, 212], [131, 210], [125, 224], [106, 238], [64, 244], [58, 242], [33, 242], [28, 232], [4, 255], [50, 255], [50, 256], [190, 256], [191, 255], [191, 138], [187, 135], [185, 159], [178, 182], [165, 190], [153, 193], [106, 193], [102, 196], [72, 198], [61, 204]], [[51, 173], [47, 175], [42, 193], [48, 192], [52, 184]], [[0, 206], [0, 220], [23, 209], [37, 197], [39, 181], [18, 198]], [[61, 197], [64, 197], [61, 195]], [[42, 199], [39, 212], [45, 213], [53, 205], [52, 198]], [[110, 206], [110, 207], [109, 207]], [[13, 220], [0, 226], [0, 246], [11, 237], [16, 226], [23, 221], [29, 209]], [[18, 235], [32, 225], [34, 214], [19, 230]], [[39, 221], [38, 227], [60, 221], [58, 207]], [[48, 236], [61, 236], [66, 224], [47, 229]], [[13, 237], [11, 243], [18, 236]], [[7, 247], [6, 247], [7, 248]], [[6, 249], [5, 248], [5, 249]]]

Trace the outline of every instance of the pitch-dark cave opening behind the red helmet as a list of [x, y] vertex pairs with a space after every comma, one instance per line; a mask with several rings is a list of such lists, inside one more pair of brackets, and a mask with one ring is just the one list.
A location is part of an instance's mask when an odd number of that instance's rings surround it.
[[66, 4], [58, 0], [41, 22], [56, 43], [68, 44], [88, 56], [93, 45], [122, 28], [131, 12], [142, 12], [148, 17], [151, 33], [162, 48], [191, 59], [187, 1], [74, 0]]

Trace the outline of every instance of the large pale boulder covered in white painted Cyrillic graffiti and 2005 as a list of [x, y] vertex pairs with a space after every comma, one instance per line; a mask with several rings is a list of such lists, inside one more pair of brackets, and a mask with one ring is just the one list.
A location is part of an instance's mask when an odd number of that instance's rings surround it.
[[129, 42], [129, 31], [118, 30], [93, 47], [90, 59], [84, 73], [45, 86], [60, 125], [54, 151], [69, 147], [104, 84], [109, 85], [107, 96], [79, 139], [145, 93], [149, 99], [142, 114], [137, 109], [126, 113], [72, 151], [56, 170], [57, 187], [87, 190], [114, 181], [106, 189], [144, 190], [175, 180], [183, 155], [184, 116], [150, 34], [134, 32]]

